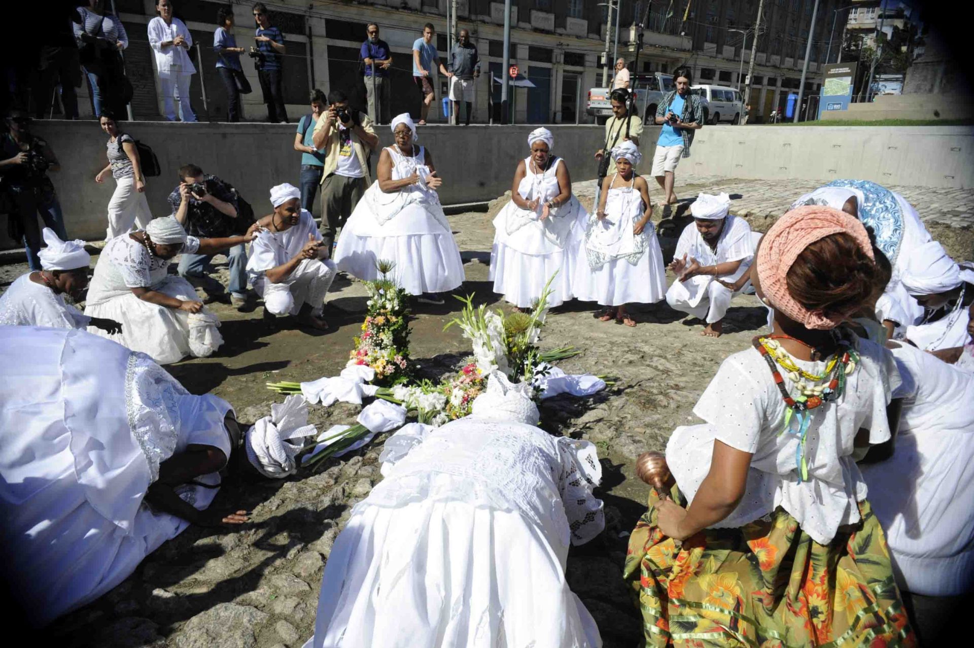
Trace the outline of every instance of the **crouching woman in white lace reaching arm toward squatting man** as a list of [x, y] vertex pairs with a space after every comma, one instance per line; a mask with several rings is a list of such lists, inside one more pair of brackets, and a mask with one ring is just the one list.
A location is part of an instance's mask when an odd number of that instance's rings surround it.
[[197, 239], [172, 216], [108, 242], [94, 266], [85, 315], [114, 320], [122, 332], [89, 330], [160, 364], [186, 356], [206, 358], [223, 343], [219, 320], [199, 301], [196, 289], [169, 275], [169, 261], [180, 251], [213, 254], [249, 243], [256, 231], [227, 239]]

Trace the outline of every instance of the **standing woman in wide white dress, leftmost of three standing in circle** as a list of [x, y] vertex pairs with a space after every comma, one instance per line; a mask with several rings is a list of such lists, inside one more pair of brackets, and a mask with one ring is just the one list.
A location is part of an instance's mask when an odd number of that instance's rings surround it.
[[429, 149], [414, 142], [408, 113], [393, 119], [395, 143], [382, 149], [376, 182], [342, 228], [338, 269], [363, 281], [379, 278], [376, 264], [393, 261], [393, 276], [419, 301], [442, 304], [438, 293], [464, 283], [464, 262], [439, 204], [442, 184]]

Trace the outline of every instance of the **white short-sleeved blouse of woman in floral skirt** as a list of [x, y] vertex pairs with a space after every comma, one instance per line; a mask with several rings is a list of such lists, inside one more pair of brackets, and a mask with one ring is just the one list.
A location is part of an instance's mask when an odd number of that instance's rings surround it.
[[[888, 350], [869, 340], [857, 343], [861, 362], [846, 379], [842, 399], [806, 413], [804, 482], [796, 468], [799, 437], [780, 434], [786, 407], [768, 364], [754, 349], [721, 364], [693, 407], [706, 423], [677, 428], [666, 444], [666, 463], [690, 502], [710, 471], [715, 439], [753, 454], [743, 499], [714, 528], [741, 526], [780, 506], [812, 540], [826, 545], [839, 526], [859, 520], [856, 503], [866, 498], [867, 487], [852, 459], [853, 441], [861, 428], [870, 431], [871, 444], [889, 438], [886, 405], [900, 377]], [[826, 366], [795, 363], [810, 373], [822, 373]], [[790, 382], [786, 385], [797, 393]]]

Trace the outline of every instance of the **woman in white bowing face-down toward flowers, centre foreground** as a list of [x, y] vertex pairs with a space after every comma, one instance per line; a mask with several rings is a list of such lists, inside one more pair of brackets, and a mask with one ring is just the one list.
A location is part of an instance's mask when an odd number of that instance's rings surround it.
[[386, 443], [385, 479], [328, 556], [306, 648], [594, 648], [565, 581], [570, 544], [601, 532], [595, 447], [535, 427], [495, 372], [467, 418]]

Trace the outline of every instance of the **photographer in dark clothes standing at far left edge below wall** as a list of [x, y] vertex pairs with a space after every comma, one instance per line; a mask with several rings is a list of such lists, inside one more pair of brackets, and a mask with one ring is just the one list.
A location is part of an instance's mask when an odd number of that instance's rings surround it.
[[29, 123], [30, 118], [22, 110], [7, 114], [7, 133], [3, 135], [0, 153], [0, 195], [6, 194], [12, 203], [8, 216], [11, 238], [23, 239], [27, 264], [31, 270], [40, 270], [37, 252], [41, 248], [41, 230], [37, 214], [61, 241], [67, 240], [67, 233], [55, 185], [48, 177], [48, 172], [59, 171], [60, 165], [48, 142], [27, 130]]

